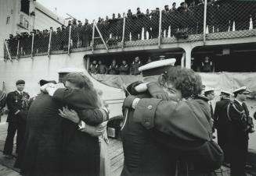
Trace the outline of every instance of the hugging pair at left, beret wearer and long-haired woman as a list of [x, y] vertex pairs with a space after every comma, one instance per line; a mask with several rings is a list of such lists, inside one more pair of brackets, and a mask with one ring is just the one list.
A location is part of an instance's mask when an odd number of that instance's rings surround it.
[[105, 140], [99, 145], [98, 136], [106, 132], [108, 110], [99, 93], [81, 73], [68, 74], [66, 87], [50, 82], [41, 80], [31, 104], [16, 167], [31, 176], [106, 175], [100, 173]]

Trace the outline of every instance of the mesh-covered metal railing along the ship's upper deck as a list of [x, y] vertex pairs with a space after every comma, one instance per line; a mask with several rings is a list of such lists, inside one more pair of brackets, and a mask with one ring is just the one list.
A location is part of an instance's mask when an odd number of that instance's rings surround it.
[[[207, 1], [205, 1], [207, 2]], [[208, 2], [70, 25], [5, 40], [5, 59], [75, 51], [256, 36], [256, 2]]]

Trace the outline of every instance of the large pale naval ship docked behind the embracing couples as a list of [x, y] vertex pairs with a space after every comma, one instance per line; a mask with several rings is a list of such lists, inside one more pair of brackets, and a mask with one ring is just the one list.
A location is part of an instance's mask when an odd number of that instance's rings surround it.
[[[110, 65], [115, 59], [120, 65], [126, 60], [131, 65], [135, 57], [144, 64], [149, 58], [176, 58], [175, 65], [193, 69], [205, 86], [215, 89], [213, 105], [221, 90], [232, 92], [247, 86], [251, 90], [247, 100], [251, 116], [256, 111], [256, 2], [218, 1], [169, 11], [156, 9], [149, 14], [124, 13], [88, 26], [91, 30], [82, 34], [87, 37], [79, 34], [78, 26], [70, 25], [59, 36], [50, 30], [45, 43], [36, 39], [35, 33], [30, 41], [5, 40], [0, 86], [4, 83], [5, 90], [11, 91], [17, 79], [24, 79], [27, 92], [36, 95], [40, 79], [59, 80], [68, 72], [83, 72], [103, 90], [110, 120], [121, 119], [125, 86], [142, 80], [142, 76], [92, 74], [92, 61]], [[209, 72], [204, 72], [205, 58], [211, 60]], [[251, 156], [256, 153], [255, 134], [250, 134]]]

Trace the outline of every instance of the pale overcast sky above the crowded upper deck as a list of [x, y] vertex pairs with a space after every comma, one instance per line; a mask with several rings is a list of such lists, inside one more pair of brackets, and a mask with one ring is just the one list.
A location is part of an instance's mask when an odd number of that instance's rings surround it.
[[99, 16], [105, 19], [106, 16], [112, 17], [112, 13], [116, 13], [116, 16], [117, 13], [122, 15], [128, 9], [132, 9], [135, 13], [137, 7], [140, 7], [142, 12], [156, 7], [164, 9], [164, 5], [169, 5], [171, 8], [172, 2], [176, 2], [178, 7], [182, 0], [37, 0], [37, 2], [63, 18], [67, 18], [66, 13], [69, 13], [84, 23], [85, 18], [92, 22], [92, 19], [98, 19]]

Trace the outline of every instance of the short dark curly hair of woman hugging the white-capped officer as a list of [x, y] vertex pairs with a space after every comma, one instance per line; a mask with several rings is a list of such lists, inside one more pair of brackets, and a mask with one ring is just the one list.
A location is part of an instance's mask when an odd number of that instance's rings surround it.
[[174, 84], [175, 89], [181, 90], [183, 98], [197, 96], [202, 91], [201, 76], [192, 69], [181, 68], [180, 66], [171, 67], [164, 76], [165, 82]]

